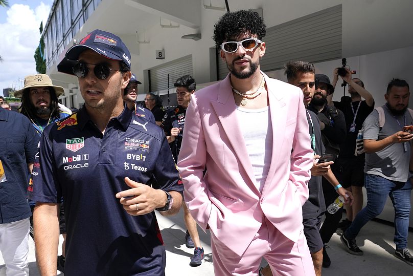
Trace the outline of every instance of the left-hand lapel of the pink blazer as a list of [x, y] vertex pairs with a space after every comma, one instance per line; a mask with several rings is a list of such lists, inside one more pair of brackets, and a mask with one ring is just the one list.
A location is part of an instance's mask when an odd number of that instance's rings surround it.
[[248, 176], [248, 180], [245, 179], [247, 185], [251, 190], [256, 193], [260, 193], [257, 189], [253, 166], [249, 160], [247, 149], [245, 146], [244, 137], [241, 132], [239, 121], [236, 114], [236, 105], [234, 96], [232, 94], [230, 75], [221, 81], [219, 86], [219, 93], [217, 101], [212, 100], [211, 104], [214, 108], [214, 111], [218, 117], [218, 120], [222, 124], [222, 129], [224, 130], [230, 144], [232, 145], [233, 151], [237, 157], [238, 163], [242, 165], [240, 170], [243, 169]]

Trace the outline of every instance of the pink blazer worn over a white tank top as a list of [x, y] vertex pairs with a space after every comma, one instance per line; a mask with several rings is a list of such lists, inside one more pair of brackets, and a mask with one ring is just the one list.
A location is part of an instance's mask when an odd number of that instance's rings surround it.
[[[215, 237], [239, 256], [264, 216], [284, 236], [297, 241], [313, 164], [302, 91], [264, 77], [273, 142], [262, 194], [254, 185], [229, 75], [192, 95], [178, 159], [185, 201], [193, 218], [204, 231], [209, 225]], [[205, 166], [208, 171], [203, 176]]]

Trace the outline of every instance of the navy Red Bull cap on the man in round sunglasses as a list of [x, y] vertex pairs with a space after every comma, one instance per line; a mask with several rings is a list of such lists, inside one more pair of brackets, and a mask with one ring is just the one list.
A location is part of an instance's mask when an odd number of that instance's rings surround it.
[[130, 69], [130, 52], [122, 39], [117, 35], [94, 30], [83, 37], [79, 44], [67, 50], [66, 58], [68, 60], [79, 60], [79, 55], [87, 49], [93, 50], [109, 59], [122, 60]]

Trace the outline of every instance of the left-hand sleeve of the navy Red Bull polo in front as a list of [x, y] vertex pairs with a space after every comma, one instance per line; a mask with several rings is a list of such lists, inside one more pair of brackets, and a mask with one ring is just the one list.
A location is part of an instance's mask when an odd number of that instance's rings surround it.
[[40, 139], [39, 152], [36, 154], [35, 165], [33, 166], [29, 199], [36, 202], [59, 203], [61, 189], [58, 185], [53, 147], [49, 136], [49, 132], [45, 131]]

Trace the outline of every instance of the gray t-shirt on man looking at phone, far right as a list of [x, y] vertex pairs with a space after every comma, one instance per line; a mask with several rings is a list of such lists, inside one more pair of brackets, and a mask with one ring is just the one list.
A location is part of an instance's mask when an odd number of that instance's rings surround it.
[[[385, 122], [379, 126], [379, 113], [374, 110], [364, 121], [363, 139], [382, 140], [403, 129], [405, 125], [413, 125], [413, 119], [406, 110], [404, 115], [393, 116], [383, 105]], [[405, 145], [404, 145], [405, 144]], [[364, 173], [378, 175], [392, 181], [406, 182], [409, 177], [411, 141], [393, 143], [376, 153], [365, 154]]]

